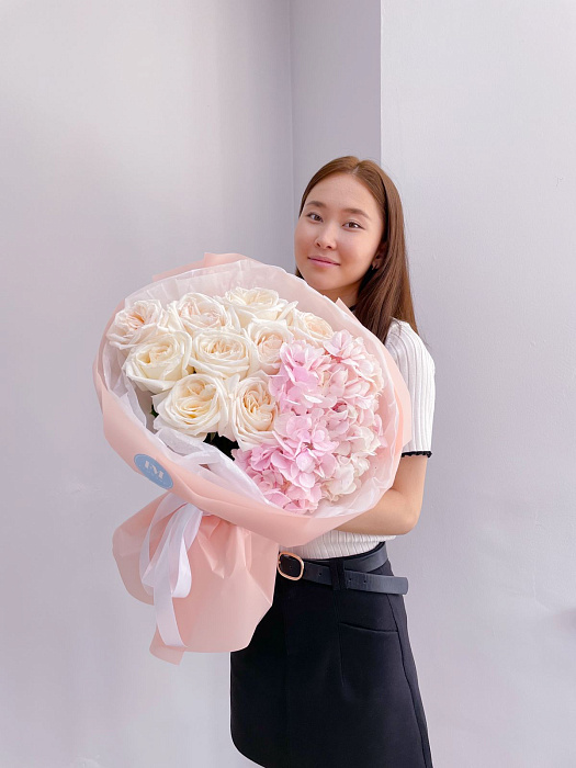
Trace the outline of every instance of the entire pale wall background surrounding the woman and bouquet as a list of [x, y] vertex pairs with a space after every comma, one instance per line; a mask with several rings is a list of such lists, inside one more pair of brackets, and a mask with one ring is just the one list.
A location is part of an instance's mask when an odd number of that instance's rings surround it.
[[434, 765], [572, 768], [574, 8], [0, 3], [1, 766], [247, 765], [227, 655], [154, 657], [121, 583], [112, 532], [157, 492], [105, 442], [91, 363], [159, 271], [292, 270], [308, 178], [354, 154], [399, 188], [437, 364], [421, 518], [391, 546]]

